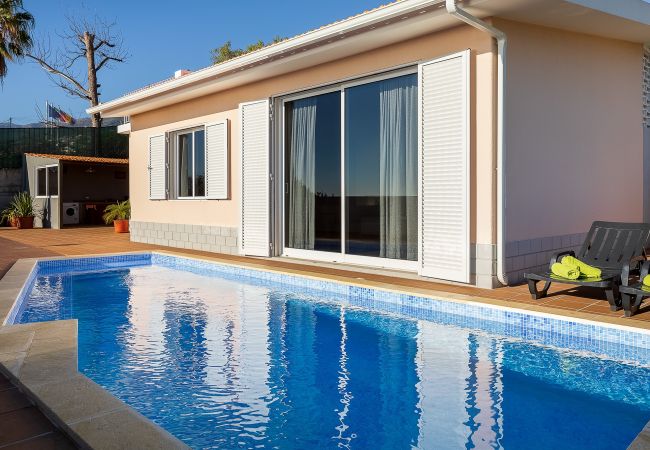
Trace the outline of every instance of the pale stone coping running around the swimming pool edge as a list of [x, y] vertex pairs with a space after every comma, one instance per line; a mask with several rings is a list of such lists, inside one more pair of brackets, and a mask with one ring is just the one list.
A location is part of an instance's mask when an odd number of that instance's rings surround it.
[[[534, 315], [542, 317], [546, 316], [565, 320], [571, 319], [577, 322], [587, 322], [634, 331], [648, 332], [650, 330], [650, 324], [621, 324], [618, 320], [612, 320], [618, 318], [602, 317], [589, 313], [566, 311], [562, 314], [558, 314], [550, 308], [538, 305], [518, 305], [515, 307], [509, 305], [508, 302], [504, 300], [475, 297], [430, 289], [407, 289], [406, 287], [395, 287], [389, 283], [365, 279], [354, 280], [349, 277], [336, 275], [305, 273], [301, 270], [289, 268], [274, 269], [261, 267], [254, 264], [254, 262], [250, 264], [242, 262], [235, 263], [218, 257], [204, 257], [175, 251], [133, 251], [101, 255], [93, 254], [19, 259], [5, 274], [5, 276], [0, 279], [0, 324], [2, 324], [0, 325], [0, 371], [16, 383], [21, 390], [32, 399], [32, 401], [41, 407], [43, 412], [48, 415], [56, 425], [68, 434], [77, 444], [84, 448], [113, 449], [125, 448], [125, 446], [128, 447], [133, 444], [137, 444], [138, 448], [142, 449], [186, 449], [189, 447], [171, 435], [168, 431], [142, 416], [135, 409], [113, 396], [113, 394], [94, 383], [85, 375], [78, 372], [76, 320], [50, 321], [22, 325], [6, 325], [5, 321], [11, 313], [14, 303], [21, 297], [23, 290], [27, 288], [26, 281], [35, 270], [38, 261], [110, 257], [129, 254], [176, 256], [264, 272], [280, 274], [289, 273], [314, 280], [326, 280], [334, 283], [380, 289], [400, 294], [416, 294], [422, 297], [446, 300], [455, 303], [480, 304], [496, 309], [533, 313]], [[69, 325], [69, 323], [74, 323], [74, 327]], [[34, 329], [28, 330], [24, 327], [31, 327]], [[58, 328], [61, 328], [61, 330], [58, 330]], [[8, 342], [5, 342], [7, 339], [2, 339], [3, 336], [8, 336], [10, 334], [22, 336], [22, 347], [20, 344], [20, 338], [17, 340], [18, 344], [13, 342], [12, 339], [9, 339]], [[31, 336], [31, 338], [29, 336]], [[28, 342], [25, 341], [25, 338], [28, 338]], [[50, 341], [54, 341], [54, 344], [51, 346], [46, 345]], [[36, 348], [32, 350], [31, 347], [34, 343], [36, 343]], [[57, 345], [61, 346], [61, 344], [63, 344], [63, 348], [57, 348]], [[11, 351], [12, 345], [18, 345], [13, 349], [14, 351]], [[41, 346], [44, 349], [49, 347], [52, 351], [66, 350], [67, 354], [64, 353], [65, 356], [62, 358], [55, 357], [54, 359], [49, 359], [43, 356]], [[22, 348], [22, 350], [15, 351], [20, 348]], [[7, 349], [9, 349], [9, 352], [7, 352]], [[30, 355], [33, 355], [33, 359]], [[72, 355], [74, 355], [74, 357], [72, 357]], [[74, 360], [74, 363], [72, 363], [72, 360]], [[40, 373], [40, 379], [37, 378], [37, 380], [41, 381], [40, 384], [34, 384], [34, 380], [30, 380], [29, 377], [27, 377], [27, 383], [24, 382], [25, 376], [23, 375], [21, 377], [20, 374], [25, 362], [29, 363], [26, 367], [31, 369], [31, 371]], [[71, 366], [74, 366], [73, 370]], [[39, 370], [34, 368], [38, 368]], [[63, 369], [63, 373], [61, 372], [61, 369]], [[30, 374], [31, 372], [28, 370], [27, 373]], [[43, 380], [48, 381], [43, 382]], [[78, 389], [80, 388], [81, 392], [84, 392], [84, 395], [81, 398], [78, 397], [78, 399], [87, 400], [88, 398], [93, 397], [93, 401], [90, 402], [90, 404], [86, 404], [85, 401], [82, 404], [79, 404], [79, 402], [71, 402], [69, 400], [70, 398], [74, 398], [70, 397], [70, 395], [77, 394], [79, 392]], [[62, 394], [65, 392], [69, 393], [69, 395], [65, 396]], [[50, 395], [49, 398], [48, 395]], [[57, 400], [59, 401], [57, 402]], [[74, 405], [71, 405], [71, 403], [74, 403]], [[75, 420], [68, 418], [68, 422], [66, 422], [62, 417], [67, 417], [69, 411], [66, 408], [71, 408], [73, 406], [76, 406], [77, 409], [81, 411], [86, 410], [86, 413], [85, 415], [81, 412], [78, 413], [83, 416], [81, 419], [73, 414], [73, 419]], [[96, 412], [93, 413], [92, 411]], [[138, 442], [134, 442], [134, 438], [137, 439]], [[628, 449], [643, 450], [649, 448], [649, 446], [650, 422], [648, 422], [643, 430], [641, 430]]]

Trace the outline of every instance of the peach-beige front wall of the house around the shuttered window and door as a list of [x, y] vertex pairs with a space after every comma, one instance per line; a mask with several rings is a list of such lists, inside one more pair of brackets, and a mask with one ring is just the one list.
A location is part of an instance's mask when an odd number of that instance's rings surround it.
[[[471, 152], [472, 242], [490, 244], [494, 239], [494, 53], [492, 39], [473, 28], [460, 26], [389, 47], [294, 72], [263, 82], [201, 97], [131, 117], [130, 181], [132, 219], [239, 227], [241, 153], [238, 105], [350, 77], [426, 61], [471, 49]], [[229, 200], [148, 199], [148, 137], [227, 118], [230, 120]]]

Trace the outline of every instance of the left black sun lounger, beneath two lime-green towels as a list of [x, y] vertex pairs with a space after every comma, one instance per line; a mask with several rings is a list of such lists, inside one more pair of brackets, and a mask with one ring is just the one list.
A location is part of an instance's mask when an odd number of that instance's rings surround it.
[[[524, 275], [528, 280], [528, 290], [533, 299], [537, 300], [546, 297], [553, 281], [601, 288], [605, 290], [610, 309], [616, 311], [621, 307], [621, 280], [627, 282], [630, 271], [636, 270], [639, 262], [646, 259], [649, 237], [650, 224], [647, 223], [594, 222], [577, 254], [571, 250], [558, 252], [551, 258], [548, 272]], [[601, 276], [569, 280], [551, 273], [551, 266], [566, 255], [575, 256], [590, 266], [599, 268]], [[542, 289], [537, 288], [540, 281], [544, 282]]]

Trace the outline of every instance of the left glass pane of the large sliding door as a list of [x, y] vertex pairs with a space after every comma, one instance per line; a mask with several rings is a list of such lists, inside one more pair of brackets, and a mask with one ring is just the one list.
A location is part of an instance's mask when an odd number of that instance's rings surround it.
[[341, 251], [341, 94], [285, 103], [285, 247]]

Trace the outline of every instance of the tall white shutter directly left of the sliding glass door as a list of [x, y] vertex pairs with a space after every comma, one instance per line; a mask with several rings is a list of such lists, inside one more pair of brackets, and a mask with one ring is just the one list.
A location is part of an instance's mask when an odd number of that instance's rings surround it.
[[242, 154], [241, 250], [270, 254], [269, 102], [239, 106]]

